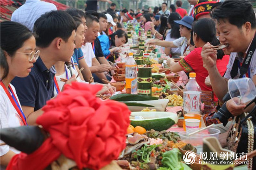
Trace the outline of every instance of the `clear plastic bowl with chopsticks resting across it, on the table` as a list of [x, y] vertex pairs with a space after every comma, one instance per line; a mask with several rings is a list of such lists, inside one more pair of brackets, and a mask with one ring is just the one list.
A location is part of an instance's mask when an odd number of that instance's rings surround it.
[[220, 130], [215, 128], [208, 128], [206, 130], [200, 131], [198, 133], [195, 133], [193, 135], [188, 135], [189, 133], [192, 133], [194, 131], [200, 130], [202, 128], [195, 128], [195, 129], [189, 129], [188, 131], [181, 131], [179, 132], [179, 135], [183, 142], [192, 144], [193, 146], [202, 145], [202, 139], [204, 137], [219, 137]]

